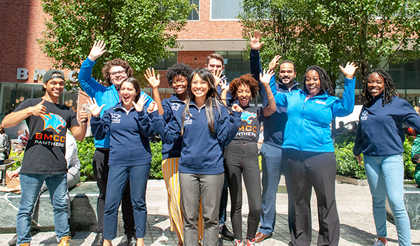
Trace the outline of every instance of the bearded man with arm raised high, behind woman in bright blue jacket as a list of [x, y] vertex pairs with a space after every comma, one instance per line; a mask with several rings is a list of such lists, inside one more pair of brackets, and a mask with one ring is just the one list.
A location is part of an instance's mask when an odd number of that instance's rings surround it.
[[[250, 34], [251, 36], [251, 34]], [[254, 75], [255, 80], [260, 81], [259, 74], [262, 73], [260, 53], [258, 50], [265, 42], [260, 42], [261, 34], [254, 31], [251, 36], [250, 45], [250, 62], [251, 73]], [[280, 56], [274, 57], [270, 62], [269, 68], [274, 70], [278, 65]], [[297, 89], [296, 69], [292, 61], [282, 61], [279, 71], [279, 82], [270, 84], [272, 91], [288, 93]], [[272, 80], [273, 81], [273, 80]], [[262, 105], [267, 106], [267, 96], [263, 91], [264, 87], [260, 82], [260, 95], [262, 96]], [[255, 235], [257, 243], [271, 238], [274, 225], [276, 223], [276, 194], [277, 187], [279, 186], [281, 172], [286, 176], [286, 186], [288, 185], [288, 177], [286, 169], [281, 165], [281, 145], [283, 143], [283, 133], [286, 126], [287, 108], [277, 106], [276, 112], [273, 115], [265, 118], [264, 121], [264, 142], [262, 143], [260, 154], [262, 157], [262, 211], [260, 217], [260, 229]], [[288, 189], [288, 194], [290, 191]], [[293, 208], [288, 206], [288, 224], [289, 229], [293, 224]]]

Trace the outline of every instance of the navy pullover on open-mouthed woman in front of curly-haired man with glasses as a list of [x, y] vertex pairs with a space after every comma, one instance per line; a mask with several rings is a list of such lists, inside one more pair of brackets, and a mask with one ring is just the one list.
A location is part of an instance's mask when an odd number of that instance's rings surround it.
[[140, 166], [152, 161], [148, 138], [153, 134], [148, 115], [132, 108], [127, 114], [118, 103], [106, 110], [104, 116], [92, 117], [90, 127], [94, 138], [110, 136], [109, 166]]

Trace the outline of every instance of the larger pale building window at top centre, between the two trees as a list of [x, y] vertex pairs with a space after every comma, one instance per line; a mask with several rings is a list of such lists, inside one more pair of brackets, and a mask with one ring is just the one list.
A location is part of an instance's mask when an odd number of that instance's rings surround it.
[[239, 10], [239, 0], [211, 0], [212, 20], [235, 20]]

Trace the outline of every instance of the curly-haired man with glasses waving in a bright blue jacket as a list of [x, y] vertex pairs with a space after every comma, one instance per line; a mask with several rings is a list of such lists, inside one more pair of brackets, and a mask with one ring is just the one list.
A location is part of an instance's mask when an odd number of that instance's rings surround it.
[[[121, 101], [119, 95], [121, 82], [123, 82], [125, 78], [132, 77], [133, 75], [133, 69], [130, 64], [128, 64], [128, 61], [117, 58], [112, 61], [107, 61], [102, 68], [102, 75], [109, 86], [104, 86], [92, 78], [92, 68], [96, 63], [96, 59], [104, 55], [105, 52], [104, 41], [94, 42], [92, 50], [90, 50], [87, 59], [83, 61], [78, 74], [80, 87], [82, 87], [83, 91], [85, 91], [88, 96], [94, 97], [99, 106], [105, 104], [100, 114], [101, 117], [104, 115], [105, 110], [116, 106], [116, 104]], [[144, 94], [144, 92], [141, 92], [141, 94]], [[151, 101], [153, 101], [153, 99], [148, 96], [146, 107]], [[92, 166], [94, 178], [97, 180], [97, 185], [99, 187], [99, 196], [97, 202], [97, 236], [94, 239], [92, 246], [102, 246], [104, 243], [104, 204], [109, 171], [109, 140], [109, 136], [106, 136], [106, 138], [102, 140], [94, 140], [96, 150], [93, 154]], [[129, 184], [125, 187], [121, 207], [123, 212], [124, 233], [127, 235], [127, 245], [136, 245], [136, 229]]]

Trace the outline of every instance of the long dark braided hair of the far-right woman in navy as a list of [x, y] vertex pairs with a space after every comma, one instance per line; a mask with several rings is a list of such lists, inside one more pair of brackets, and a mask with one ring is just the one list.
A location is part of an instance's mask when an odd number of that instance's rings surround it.
[[360, 98], [360, 103], [362, 103], [363, 106], [367, 107], [372, 102], [373, 96], [367, 89], [367, 81], [369, 80], [369, 76], [372, 73], [377, 73], [377, 75], [381, 76], [381, 78], [384, 79], [384, 92], [382, 92], [381, 94], [381, 96], [383, 97], [382, 106], [384, 106], [386, 103], [391, 103], [393, 96], [398, 96], [398, 93], [395, 89], [391, 75], [389, 75], [389, 73], [386, 73], [386, 71], [382, 69], [372, 69], [372, 71], [367, 73], [367, 75], [363, 79], [362, 97]]

